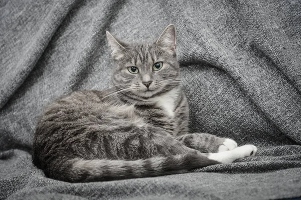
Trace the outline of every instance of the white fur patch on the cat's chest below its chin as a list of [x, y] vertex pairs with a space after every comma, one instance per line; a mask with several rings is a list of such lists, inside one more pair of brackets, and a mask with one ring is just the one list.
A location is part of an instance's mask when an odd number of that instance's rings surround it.
[[176, 87], [160, 96], [149, 98], [148, 100], [154, 102], [156, 107], [164, 109], [169, 116], [175, 116], [174, 109], [179, 93], [180, 88]]

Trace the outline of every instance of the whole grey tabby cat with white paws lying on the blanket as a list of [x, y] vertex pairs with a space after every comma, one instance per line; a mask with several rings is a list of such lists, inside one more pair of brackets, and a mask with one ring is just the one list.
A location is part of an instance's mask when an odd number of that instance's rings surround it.
[[253, 145], [188, 133], [176, 28], [154, 42], [127, 43], [107, 32], [114, 86], [75, 91], [46, 107], [33, 162], [48, 177], [86, 182], [184, 173], [254, 156]]

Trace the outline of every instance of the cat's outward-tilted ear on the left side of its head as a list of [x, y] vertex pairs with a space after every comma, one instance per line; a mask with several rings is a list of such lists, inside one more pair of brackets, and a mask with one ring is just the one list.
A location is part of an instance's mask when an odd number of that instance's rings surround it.
[[106, 31], [107, 39], [110, 43], [111, 49], [112, 49], [112, 56], [114, 59], [119, 59], [123, 56], [123, 50], [127, 46], [127, 43], [125, 41], [122, 41], [121, 39], [118, 39], [117, 37], [114, 37], [109, 31]]

